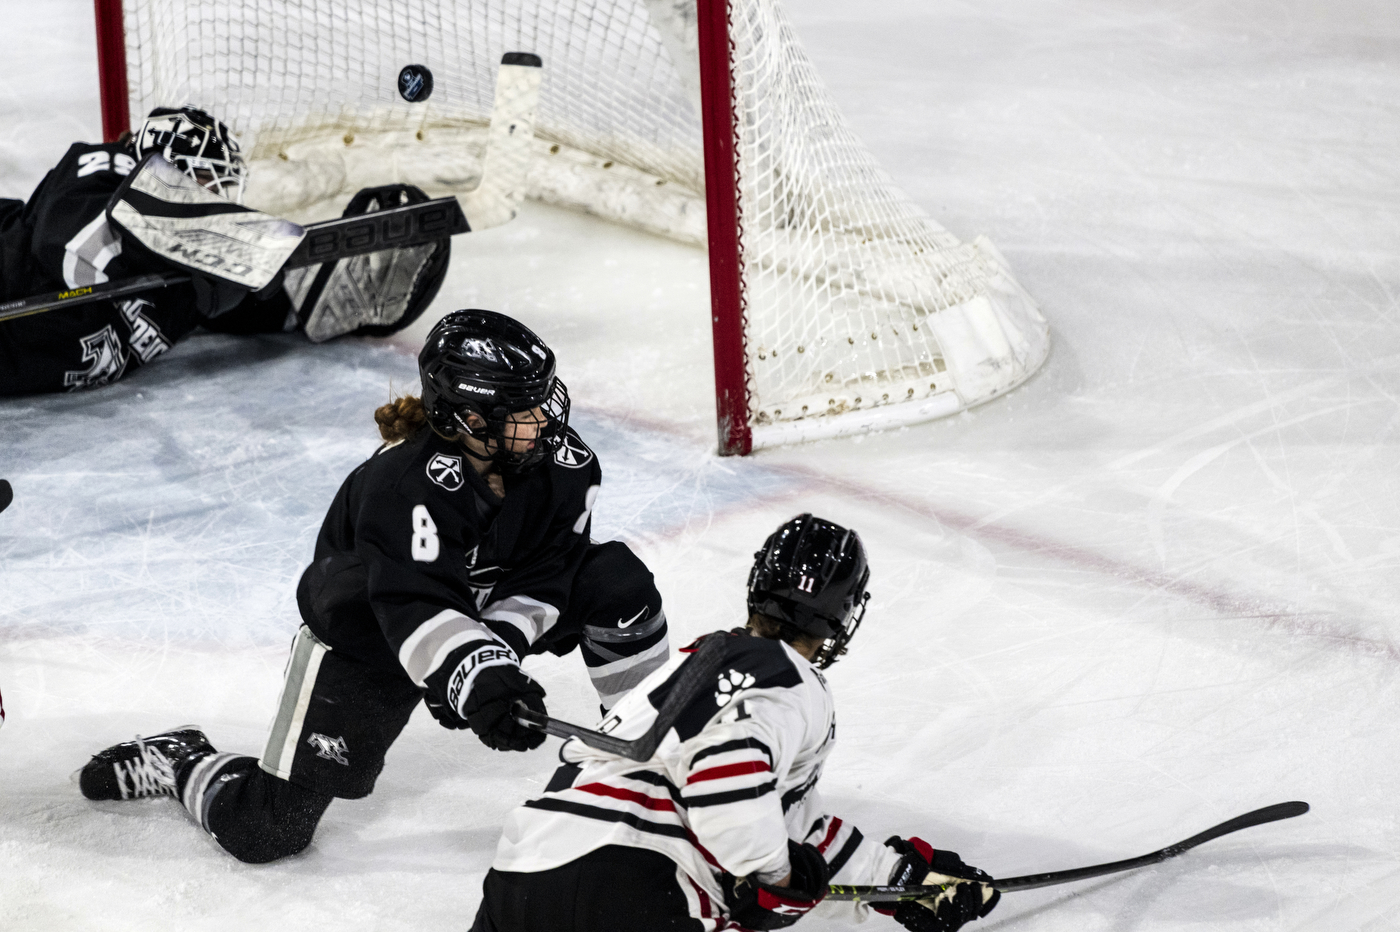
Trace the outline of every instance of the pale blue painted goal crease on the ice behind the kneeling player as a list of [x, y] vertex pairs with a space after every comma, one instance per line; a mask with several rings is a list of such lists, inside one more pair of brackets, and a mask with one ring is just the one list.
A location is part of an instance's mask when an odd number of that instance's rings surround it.
[[[186, 340], [97, 392], [0, 403], [10, 635], [280, 642], [344, 476], [378, 446], [372, 411], [417, 392], [412, 355], [300, 336]], [[603, 463], [594, 537], [693, 526], [792, 484], [575, 409]], [[20, 529], [22, 528], [22, 533]]]

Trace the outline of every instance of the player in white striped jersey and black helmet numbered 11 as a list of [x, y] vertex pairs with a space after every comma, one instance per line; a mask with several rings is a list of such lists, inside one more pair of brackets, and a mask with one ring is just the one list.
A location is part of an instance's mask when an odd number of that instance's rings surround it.
[[[860, 626], [868, 578], [854, 530], [812, 515], [780, 526], [749, 575], [748, 627], [706, 641], [722, 649], [717, 679], [645, 763], [564, 743], [546, 792], [505, 820], [472, 932], [777, 929], [827, 883], [948, 884], [882, 910], [914, 932], [987, 915], [1000, 894], [986, 873], [920, 838], [876, 844], [816, 791], [836, 739], [820, 669]], [[682, 652], [651, 673], [602, 730], [648, 733], [692, 662]], [[822, 911], [839, 905], [868, 908]]]

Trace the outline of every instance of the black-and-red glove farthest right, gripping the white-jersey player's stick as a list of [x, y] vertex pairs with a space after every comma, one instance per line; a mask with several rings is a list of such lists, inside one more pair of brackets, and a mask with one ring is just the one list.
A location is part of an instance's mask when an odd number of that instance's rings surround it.
[[892, 886], [944, 884], [934, 897], [900, 903], [893, 908], [874, 907], [876, 912], [895, 917], [910, 932], [958, 932], [966, 922], [991, 912], [1001, 900], [1001, 891], [987, 883], [986, 870], [969, 868], [952, 851], [934, 851], [923, 838], [893, 835], [885, 844], [900, 855], [890, 873]]

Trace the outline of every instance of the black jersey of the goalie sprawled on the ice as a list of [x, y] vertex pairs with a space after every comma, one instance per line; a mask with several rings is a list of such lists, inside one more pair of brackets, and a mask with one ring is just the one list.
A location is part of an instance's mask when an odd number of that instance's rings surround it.
[[[126, 249], [106, 221], [134, 168], [126, 146], [74, 143], [27, 203], [0, 200], [0, 301], [176, 271]], [[188, 284], [0, 322], [0, 395], [105, 385], [199, 323]]]

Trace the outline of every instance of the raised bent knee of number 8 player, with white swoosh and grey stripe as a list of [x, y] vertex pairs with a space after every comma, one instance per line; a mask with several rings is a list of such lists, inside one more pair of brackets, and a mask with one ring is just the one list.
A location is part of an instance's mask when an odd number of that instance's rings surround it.
[[666, 662], [666, 614], [657, 584], [620, 540], [594, 544], [574, 577], [560, 621], [578, 633], [580, 651], [605, 708]]

